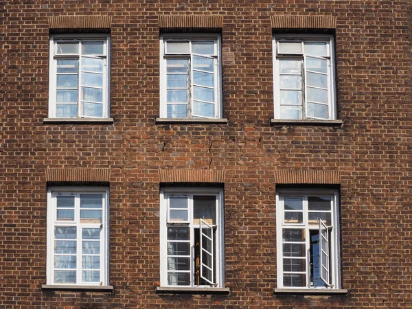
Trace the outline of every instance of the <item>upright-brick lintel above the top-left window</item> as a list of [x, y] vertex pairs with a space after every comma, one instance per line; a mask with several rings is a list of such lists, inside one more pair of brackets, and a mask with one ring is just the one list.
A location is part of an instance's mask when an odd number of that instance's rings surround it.
[[49, 16], [49, 29], [110, 28], [111, 16]]

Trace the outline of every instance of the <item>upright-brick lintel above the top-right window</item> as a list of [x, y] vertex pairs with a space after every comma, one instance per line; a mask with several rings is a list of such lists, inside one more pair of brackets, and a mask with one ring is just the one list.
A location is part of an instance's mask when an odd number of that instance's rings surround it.
[[336, 16], [271, 16], [273, 28], [335, 29]]

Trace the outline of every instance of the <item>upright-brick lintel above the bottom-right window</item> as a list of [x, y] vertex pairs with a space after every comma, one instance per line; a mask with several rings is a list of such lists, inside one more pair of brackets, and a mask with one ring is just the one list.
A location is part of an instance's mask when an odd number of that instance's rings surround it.
[[330, 170], [277, 170], [275, 183], [330, 184], [341, 183], [341, 172]]

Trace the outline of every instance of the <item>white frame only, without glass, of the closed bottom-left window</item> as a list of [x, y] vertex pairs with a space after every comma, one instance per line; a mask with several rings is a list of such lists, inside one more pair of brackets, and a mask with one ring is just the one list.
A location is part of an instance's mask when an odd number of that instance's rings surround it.
[[[100, 193], [103, 196], [102, 223], [81, 223], [80, 222], [80, 206], [75, 207], [75, 220], [57, 220], [56, 218], [56, 196], [59, 194], [72, 195], [76, 198], [80, 194], [96, 194]], [[108, 211], [108, 196], [107, 187], [49, 187], [47, 190], [47, 284], [56, 286], [108, 286], [108, 255], [109, 255], [109, 211]], [[72, 283], [55, 283], [54, 282], [54, 229], [55, 227], [76, 227], [76, 284]], [[102, 229], [100, 235], [100, 282], [82, 282], [82, 228], [97, 228]], [[79, 280], [80, 279], [80, 280]]]

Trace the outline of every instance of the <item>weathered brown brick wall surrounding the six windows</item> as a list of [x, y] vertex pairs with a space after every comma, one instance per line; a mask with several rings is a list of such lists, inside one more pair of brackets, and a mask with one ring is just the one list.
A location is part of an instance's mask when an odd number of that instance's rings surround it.
[[[0, 308], [412, 308], [411, 13], [406, 0], [2, 1]], [[114, 124], [43, 124], [49, 21], [78, 15], [111, 16]], [[155, 124], [163, 15], [222, 16], [227, 125]], [[273, 16], [336, 18], [342, 128], [269, 124]], [[113, 295], [41, 290], [58, 168], [110, 169]], [[155, 294], [159, 170], [187, 169], [225, 171], [228, 296]], [[293, 170], [340, 174], [348, 295], [272, 293], [275, 171]]]

